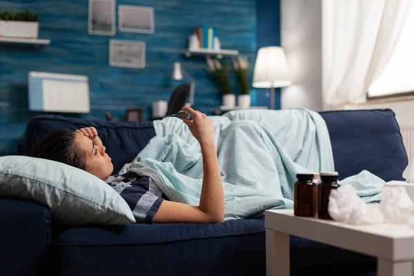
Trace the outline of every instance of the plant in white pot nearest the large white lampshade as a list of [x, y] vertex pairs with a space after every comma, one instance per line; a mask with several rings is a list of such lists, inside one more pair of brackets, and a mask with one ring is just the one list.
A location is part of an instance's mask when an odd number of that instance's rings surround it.
[[248, 60], [247, 57], [237, 57], [233, 59], [233, 68], [237, 75], [240, 94], [237, 102], [241, 108], [250, 108], [250, 86], [248, 85]]

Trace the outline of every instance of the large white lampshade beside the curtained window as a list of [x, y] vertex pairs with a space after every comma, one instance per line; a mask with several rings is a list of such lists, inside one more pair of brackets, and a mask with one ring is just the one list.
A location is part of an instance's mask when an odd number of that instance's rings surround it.
[[277, 88], [290, 86], [288, 61], [282, 47], [269, 46], [257, 52], [253, 87]]

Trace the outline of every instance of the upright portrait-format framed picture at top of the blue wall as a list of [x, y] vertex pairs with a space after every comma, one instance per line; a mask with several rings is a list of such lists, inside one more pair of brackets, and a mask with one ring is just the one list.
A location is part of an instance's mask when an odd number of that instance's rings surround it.
[[88, 33], [115, 34], [115, 0], [89, 0]]

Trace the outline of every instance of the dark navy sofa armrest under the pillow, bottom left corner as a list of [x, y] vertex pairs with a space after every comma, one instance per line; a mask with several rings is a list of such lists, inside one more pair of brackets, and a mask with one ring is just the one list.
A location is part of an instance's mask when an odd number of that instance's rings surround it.
[[0, 198], [0, 275], [45, 275], [50, 231], [47, 207]]

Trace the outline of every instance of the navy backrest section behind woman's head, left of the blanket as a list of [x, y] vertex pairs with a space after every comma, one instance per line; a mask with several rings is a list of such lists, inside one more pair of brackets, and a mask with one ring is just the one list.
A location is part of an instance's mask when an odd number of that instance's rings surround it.
[[94, 126], [112, 158], [114, 173], [119, 172], [124, 164], [129, 163], [155, 136], [152, 121], [119, 122], [89, 121], [66, 118], [56, 115], [39, 115], [33, 117], [26, 128], [25, 155], [30, 156], [32, 148], [50, 132], [56, 130], [77, 130]]

